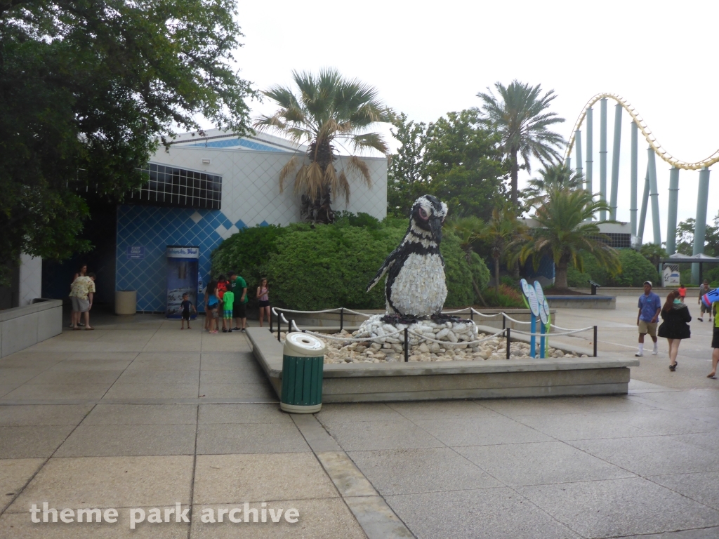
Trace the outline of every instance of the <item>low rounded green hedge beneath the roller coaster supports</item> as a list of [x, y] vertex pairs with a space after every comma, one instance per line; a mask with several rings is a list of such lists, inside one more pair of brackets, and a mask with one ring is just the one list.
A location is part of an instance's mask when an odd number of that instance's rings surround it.
[[597, 263], [591, 254], [582, 254], [584, 272], [574, 267], [567, 271], [567, 282], [570, 287], [587, 288], [587, 280], [591, 279], [605, 286], [641, 287], [644, 281], [659, 282], [659, 273], [649, 260], [634, 249], [618, 249], [621, 271], [618, 275], [611, 275]]

